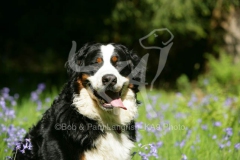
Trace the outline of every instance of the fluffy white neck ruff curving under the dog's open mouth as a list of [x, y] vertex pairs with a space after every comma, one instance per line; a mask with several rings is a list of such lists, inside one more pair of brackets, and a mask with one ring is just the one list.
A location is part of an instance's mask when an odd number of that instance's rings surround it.
[[116, 108], [112, 111], [105, 111], [91, 98], [87, 89], [83, 88], [79, 94], [74, 95], [73, 105], [78, 109], [79, 113], [96, 120], [100, 125], [106, 127], [125, 126], [137, 114], [137, 104], [133, 91], [128, 89], [125, 96], [122, 97], [122, 101], [127, 110]]

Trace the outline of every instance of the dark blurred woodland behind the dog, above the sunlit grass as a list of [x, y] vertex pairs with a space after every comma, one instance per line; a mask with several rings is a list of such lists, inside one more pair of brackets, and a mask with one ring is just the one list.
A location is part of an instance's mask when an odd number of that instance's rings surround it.
[[[229, 70], [239, 62], [239, 17], [239, 0], [4, 1], [0, 6], [0, 88], [29, 93], [42, 82], [61, 87], [67, 80], [64, 64], [73, 40], [78, 49], [92, 41], [114, 42], [140, 57], [149, 53], [146, 81], [150, 84], [159, 50], [144, 49], [139, 39], [154, 29], [168, 28], [174, 35], [173, 46], [154, 87], [176, 89], [183, 81], [194, 82], [210, 72], [210, 59], [215, 62], [227, 56], [223, 60], [228, 60]], [[168, 39], [169, 34], [162, 32], [146, 43], [162, 46]], [[215, 65], [215, 70], [221, 72], [226, 66]], [[219, 83], [228, 82], [229, 71], [214, 73], [219, 74]]]

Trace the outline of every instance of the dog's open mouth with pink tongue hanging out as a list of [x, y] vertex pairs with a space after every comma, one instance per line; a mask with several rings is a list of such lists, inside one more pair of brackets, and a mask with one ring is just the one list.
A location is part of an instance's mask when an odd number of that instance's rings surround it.
[[123, 105], [121, 99], [121, 91], [114, 92], [112, 90], [105, 90], [97, 92], [92, 87], [90, 88], [92, 89], [94, 96], [97, 97], [98, 101], [104, 109], [109, 110], [113, 108], [122, 108], [124, 110], [127, 110], [127, 108]]

